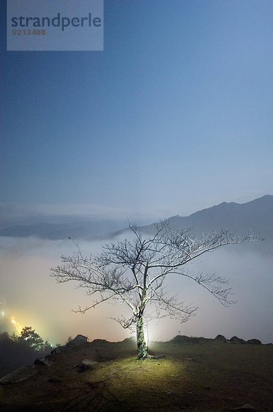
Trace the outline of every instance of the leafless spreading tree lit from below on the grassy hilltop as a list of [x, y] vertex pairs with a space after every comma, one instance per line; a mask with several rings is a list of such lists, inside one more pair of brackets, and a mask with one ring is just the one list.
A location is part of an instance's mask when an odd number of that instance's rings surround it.
[[75, 281], [87, 289], [95, 300], [78, 312], [95, 308], [110, 299], [126, 304], [132, 315], [116, 319], [123, 328], [137, 329], [138, 358], [147, 358], [147, 346], [143, 333], [144, 315], [147, 306], [154, 305], [154, 316], [171, 317], [185, 322], [194, 314], [195, 308], [180, 302], [177, 296], [165, 293], [165, 279], [170, 275], [180, 275], [191, 279], [214, 295], [221, 304], [230, 306], [228, 280], [215, 274], [196, 273], [187, 264], [198, 259], [203, 253], [213, 251], [226, 244], [237, 244], [259, 240], [248, 233], [237, 236], [227, 230], [191, 236], [188, 229], [178, 231], [169, 226], [167, 220], [154, 225], [151, 236], [143, 236], [135, 225], [129, 225], [133, 240], [109, 243], [102, 253], [94, 258], [86, 258], [80, 248], [73, 256], [63, 256], [61, 266], [51, 268], [51, 276], [58, 283]]

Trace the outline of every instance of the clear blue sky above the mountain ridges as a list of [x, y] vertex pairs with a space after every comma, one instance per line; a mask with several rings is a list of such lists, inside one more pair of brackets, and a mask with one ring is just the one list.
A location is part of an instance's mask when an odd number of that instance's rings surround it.
[[1, 203], [158, 218], [272, 194], [272, 27], [272, 1], [105, 0], [104, 52], [7, 52], [1, 5]]

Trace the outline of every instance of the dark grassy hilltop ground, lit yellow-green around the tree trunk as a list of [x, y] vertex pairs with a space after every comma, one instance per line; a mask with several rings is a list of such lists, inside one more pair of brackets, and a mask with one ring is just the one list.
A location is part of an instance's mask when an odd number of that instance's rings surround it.
[[[214, 340], [151, 343], [165, 358], [137, 361], [136, 343], [94, 341], [49, 356], [50, 367], [0, 387], [3, 412], [225, 412], [250, 404], [273, 410], [273, 345]], [[97, 361], [79, 372], [84, 358]]]

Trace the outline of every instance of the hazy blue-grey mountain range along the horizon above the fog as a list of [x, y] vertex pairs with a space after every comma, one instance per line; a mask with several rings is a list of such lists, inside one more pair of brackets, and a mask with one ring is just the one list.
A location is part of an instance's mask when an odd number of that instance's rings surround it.
[[[196, 211], [190, 216], [171, 216], [170, 225], [178, 229], [189, 228], [193, 233], [213, 229], [230, 229], [239, 233], [252, 231], [268, 240], [273, 240], [273, 196], [265, 195], [248, 203], [226, 203]], [[128, 233], [128, 228], [119, 229], [122, 222], [100, 220], [75, 223], [40, 223], [38, 225], [12, 226], [0, 230], [0, 236], [37, 236], [49, 240], [68, 237], [94, 240], [95, 238], [116, 237]], [[154, 225], [138, 227], [143, 233], [152, 233]]]

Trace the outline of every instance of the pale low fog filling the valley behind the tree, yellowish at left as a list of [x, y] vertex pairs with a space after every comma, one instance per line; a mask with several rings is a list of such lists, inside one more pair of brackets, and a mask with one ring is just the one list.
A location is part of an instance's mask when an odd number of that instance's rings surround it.
[[[179, 277], [169, 278], [166, 283], [169, 293], [178, 293], [185, 303], [193, 303], [199, 310], [183, 324], [169, 319], [154, 321], [149, 325], [149, 339], [169, 340], [180, 332], [189, 336], [213, 338], [220, 333], [228, 338], [237, 335], [261, 339], [264, 343], [273, 341], [273, 259], [248, 251], [247, 246], [208, 253], [190, 267], [228, 277], [237, 304], [224, 308], [198, 284]], [[105, 304], [86, 314], [75, 314], [71, 309], [88, 305], [90, 298], [75, 284], [56, 284], [49, 277], [51, 266], [60, 263], [60, 255], [75, 251], [73, 242], [0, 238], [0, 247], [0, 295], [6, 301], [5, 319], [1, 323], [8, 323], [14, 317], [23, 326], [31, 325], [52, 343], [64, 343], [68, 336], [78, 333], [110, 341], [130, 336], [130, 332], [110, 319], [124, 313], [125, 308]], [[100, 245], [82, 242], [81, 247], [84, 253], [97, 253]]]

